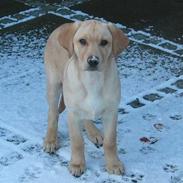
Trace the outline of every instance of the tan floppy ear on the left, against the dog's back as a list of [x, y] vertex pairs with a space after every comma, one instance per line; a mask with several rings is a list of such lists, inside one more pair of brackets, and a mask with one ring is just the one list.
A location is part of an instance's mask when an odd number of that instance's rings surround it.
[[78, 30], [80, 26], [80, 22], [74, 22], [74, 23], [66, 23], [63, 24], [60, 27], [60, 32], [59, 32], [59, 43], [60, 45], [65, 48], [68, 53], [69, 57], [72, 56], [73, 54], [73, 37]]

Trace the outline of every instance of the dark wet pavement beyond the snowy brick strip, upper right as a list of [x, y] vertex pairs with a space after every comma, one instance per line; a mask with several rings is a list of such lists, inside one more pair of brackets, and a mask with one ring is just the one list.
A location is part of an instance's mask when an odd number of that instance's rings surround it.
[[183, 44], [182, 1], [92, 0], [71, 8]]

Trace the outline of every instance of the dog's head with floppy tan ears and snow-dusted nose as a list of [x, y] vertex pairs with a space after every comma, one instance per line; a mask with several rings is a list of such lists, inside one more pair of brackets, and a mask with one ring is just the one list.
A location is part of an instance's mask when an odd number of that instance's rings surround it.
[[115, 25], [95, 20], [64, 24], [59, 43], [76, 56], [82, 70], [102, 70], [111, 57], [128, 46], [128, 38]]

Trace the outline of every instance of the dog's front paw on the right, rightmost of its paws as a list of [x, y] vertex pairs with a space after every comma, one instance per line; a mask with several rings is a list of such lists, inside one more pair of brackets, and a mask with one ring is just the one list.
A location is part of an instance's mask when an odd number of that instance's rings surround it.
[[107, 164], [106, 169], [110, 174], [123, 175], [125, 173], [125, 168], [120, 161]]

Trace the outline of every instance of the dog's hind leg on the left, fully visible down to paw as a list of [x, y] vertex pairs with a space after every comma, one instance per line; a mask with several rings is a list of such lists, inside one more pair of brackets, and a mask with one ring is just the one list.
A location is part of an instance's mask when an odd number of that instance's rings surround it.
[[47, 97], [48, 97], [48, 128], [44, 140], [44, 150], [48, 153], [54, 153], [58, 148], [57, 129], [59, 117], [59, 99], [62, 91], [62, 86], [58, 82], [48, 82]]

